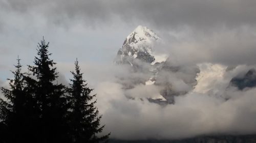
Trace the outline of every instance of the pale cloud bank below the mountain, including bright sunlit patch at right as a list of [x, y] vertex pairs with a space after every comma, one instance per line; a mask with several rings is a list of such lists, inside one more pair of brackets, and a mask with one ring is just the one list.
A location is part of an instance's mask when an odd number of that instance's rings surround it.
[[201, 72], [197, 75], [198, 83], [194, 89], [176, 96], [175, 104], [165, 106], [147, 100], [161, 96], [158, 85], [136, 84], [127, 90], [119, 77], [122, 74], [134, 77], [129, 68], [106, 68], [108, 75], [113, 74], [109, 76], [111, 80], [93, 85], [105, 131], [111, 131], [111, 137], [119, 139], [256, 133], [256, 88], [240, 91], [229, 86], [234, 76], [246, 73], [253, 66], [241, 65], [232, 70], [226, 70], [227, 66], [219, 64], [203, 63], [198, 66]]

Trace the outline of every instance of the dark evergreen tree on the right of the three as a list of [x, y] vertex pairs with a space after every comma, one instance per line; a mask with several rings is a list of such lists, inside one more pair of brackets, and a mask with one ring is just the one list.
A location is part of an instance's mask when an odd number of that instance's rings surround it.
[[96, 95], [91, 95], [92, 89], [87, 87], [86, 80], [83, 80], [83, 73], [80, 72], [78, 61], [75, 61], [75, 71], [71, 71], [73, 79], [70, 88], [67, 89], [70, 95], [70, 137], [72, 142], [101, 142], [106, 141], [110, 134], [98, 137], [104, 126], [100, 126], [101, 115], [98, 116], [98, 109], [95, 107]]

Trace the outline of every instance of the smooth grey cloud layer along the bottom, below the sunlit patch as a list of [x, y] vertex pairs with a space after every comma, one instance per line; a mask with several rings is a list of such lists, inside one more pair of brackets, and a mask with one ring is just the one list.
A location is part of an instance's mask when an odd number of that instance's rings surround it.
[[[104, 90], [108, 85], [112, 85], [111, 90], [115, 92], [102, 93], [109, 91]], [[255, 133], [255, 89], [226, 102], [193, 93], [177, 97], [176, 104], [165, 107], [146, 100], [124, 98], [118, 84], [106, 82], [97, 89], [102, 122], [114, 138], [169, 139], [202, 134]], [[104, 100], [102, 104], [101, 99]], [[103, 103], [105, 106], [100, 108]]]

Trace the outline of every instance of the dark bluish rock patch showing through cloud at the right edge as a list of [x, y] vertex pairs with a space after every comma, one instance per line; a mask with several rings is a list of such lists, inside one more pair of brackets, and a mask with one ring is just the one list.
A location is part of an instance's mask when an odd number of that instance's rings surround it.
[[230, 85], [237, 87], [239, 90], [245, 88], [256, 87], [256, 71], [255, 69], [250, 69], [242, 77], [234, 77], [230, 81]]

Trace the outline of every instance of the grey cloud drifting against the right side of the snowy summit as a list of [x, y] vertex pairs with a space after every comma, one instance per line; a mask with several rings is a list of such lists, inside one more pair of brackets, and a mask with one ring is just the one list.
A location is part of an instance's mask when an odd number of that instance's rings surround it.
[[158, 45], [169, 54], [173, 65], [193, 65], [210, 62], [223, 65], [256, 64], [256, 31], [250, 26], [236, 29], [220, 28], [211, 33], [194, 31], [187, 27], [181, 31], [168, 31]]

